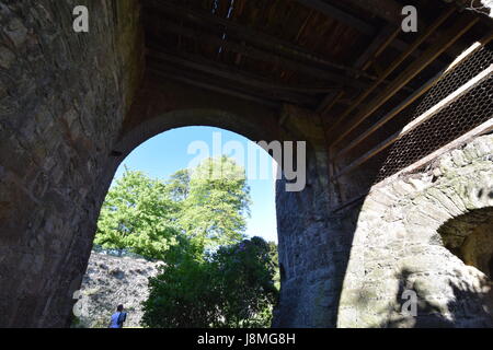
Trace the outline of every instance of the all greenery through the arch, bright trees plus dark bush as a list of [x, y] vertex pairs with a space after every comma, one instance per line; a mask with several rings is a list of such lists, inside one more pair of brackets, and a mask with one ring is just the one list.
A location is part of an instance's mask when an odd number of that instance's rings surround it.
[[149, 327], [266, 327], [277, 247], [245, 240], [250, 189], [231, 159], [208, 159], [167, 182], [126, 170], [103, 203], [95, 244], [164, 261], [150, 280]]

